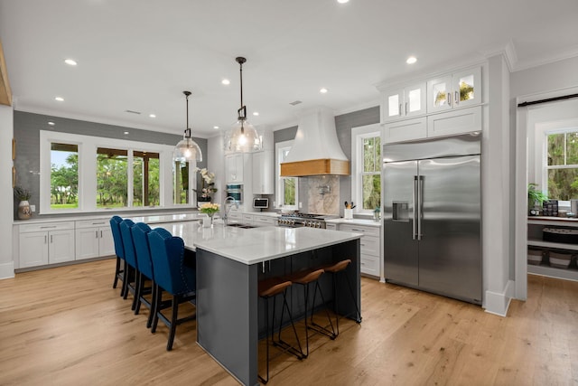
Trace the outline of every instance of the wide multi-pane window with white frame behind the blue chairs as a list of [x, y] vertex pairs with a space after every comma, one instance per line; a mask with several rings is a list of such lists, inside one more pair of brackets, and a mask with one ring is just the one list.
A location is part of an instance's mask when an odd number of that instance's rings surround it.
[[196, 203], [196, 165], [175, 167], [172, 146], [47, 130], [40, 140], [40, 214]]

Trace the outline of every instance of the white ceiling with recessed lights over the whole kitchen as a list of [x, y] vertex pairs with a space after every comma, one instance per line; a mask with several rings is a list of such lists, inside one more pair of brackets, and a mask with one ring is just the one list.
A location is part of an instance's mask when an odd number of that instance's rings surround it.
[[182, 134], [187, 89], [193, 136], [210, 137], [237, 119], [237, 56], [249, 121], [276, 129], [506, 47], [512, 71], [575, 56], [578, 1], [0, 0], [0, 39], [17, 110]]

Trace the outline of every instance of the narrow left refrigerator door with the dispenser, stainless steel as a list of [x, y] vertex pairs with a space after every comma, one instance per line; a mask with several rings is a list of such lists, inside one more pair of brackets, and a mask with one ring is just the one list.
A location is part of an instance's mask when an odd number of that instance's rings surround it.
[[417, 286], [415, 186], [417, 162], [384, 165], [384, 275]]

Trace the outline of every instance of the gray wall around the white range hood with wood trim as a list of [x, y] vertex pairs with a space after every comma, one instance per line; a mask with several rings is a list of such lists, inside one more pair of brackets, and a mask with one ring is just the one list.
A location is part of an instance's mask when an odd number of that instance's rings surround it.
[[[379, 106], [373, 108], [365, 108], [363, 110], [353, 111], [351, 113], [342, 114], [335, 117], [335, 128], [337, 129], [337, 137], [340, 141], [341, 149], [343, 153], [351, 161], [351, 128], [372, 125], [374, 123], [379, 123]], [[294, 139], [297, 134], [297, 127], [287, 127], [281, 130], [276, 130], [273, 135], [273, 140], [276, 143], [289, 141]], [[304, 192], [308, 184], [300, 184], [299, 188], [299, 199], [303, 202], [303, 208], [307, 208], [307, 192]], [[344, 200], [351, 200], [351, 177], [341, 176], [340, 177], [340, 199], [339, 202]], [[343, 215], [343, 207], [340, 205], [340, 215]]]

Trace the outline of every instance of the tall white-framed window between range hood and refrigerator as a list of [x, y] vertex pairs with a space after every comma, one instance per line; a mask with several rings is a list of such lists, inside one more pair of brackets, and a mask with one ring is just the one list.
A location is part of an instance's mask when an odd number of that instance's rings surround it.
[[378, 125], [351, 129], [351, 200], [356, 212], [371, 214], [381, 206], [381, 135]]

